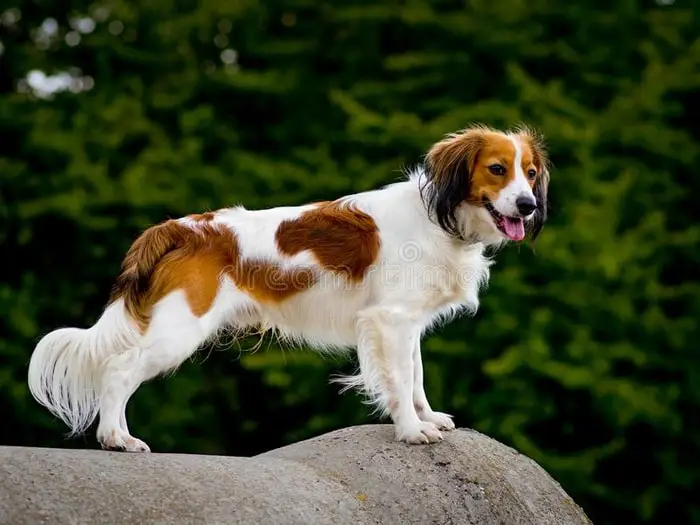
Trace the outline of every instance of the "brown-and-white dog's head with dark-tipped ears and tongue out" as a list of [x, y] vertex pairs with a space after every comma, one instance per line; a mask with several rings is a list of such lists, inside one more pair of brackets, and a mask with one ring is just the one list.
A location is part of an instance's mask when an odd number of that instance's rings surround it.
[[542, 136], [527, 127], [501, 132], [474, 126], [436, 143], [426, 155], [429, 211], [464, 238], [458, 210], [476, 212], [504, 239], [533, 240], [547, 219], [549, 161]]

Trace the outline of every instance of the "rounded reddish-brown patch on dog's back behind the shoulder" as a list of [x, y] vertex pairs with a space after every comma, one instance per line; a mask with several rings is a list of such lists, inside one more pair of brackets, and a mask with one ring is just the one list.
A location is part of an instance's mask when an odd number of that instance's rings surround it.
[[310, 250], [327, 270], [361, 281], [379, 253], [379, 230], [367, 213], [337, 202], [321, 203], [297, 219], [280, 224], [280, 252], [294, 256]]

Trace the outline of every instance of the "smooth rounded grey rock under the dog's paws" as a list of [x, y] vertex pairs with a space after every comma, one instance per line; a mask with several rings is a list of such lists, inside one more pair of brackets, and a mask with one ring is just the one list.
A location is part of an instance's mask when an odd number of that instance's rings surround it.
[[0, 447], [0, 523], [590, 524], [541, 467], [471, 430], [351, 427], [252, 458]]

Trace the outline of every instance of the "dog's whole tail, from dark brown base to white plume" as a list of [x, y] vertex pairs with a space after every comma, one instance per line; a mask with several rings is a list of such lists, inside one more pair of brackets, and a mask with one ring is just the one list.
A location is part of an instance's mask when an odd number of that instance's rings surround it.
[[146, 230], [131, 246], [112, 296], [97, 323], [61, 328], [44, 336], [29, 362], [34, 398], [81, 434], [99, 412], [102, 368], [111, 356], [138, 347], [150, 317], [151, 276], [163, 257], [176, 249], [187, 229], [167, 221]]

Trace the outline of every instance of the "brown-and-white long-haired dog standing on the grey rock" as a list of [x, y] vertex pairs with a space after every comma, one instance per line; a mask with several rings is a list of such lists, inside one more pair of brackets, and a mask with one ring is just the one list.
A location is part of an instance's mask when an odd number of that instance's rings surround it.
[[336, 379], [342, 391], [364, 393], [398, 441], [438, 442], [455, 425], [426, 397], [421, 338], [476, 312], [487, 248], [539, 235], [549, 172], [538, 132], [474, 125], [381, 189], [152, 226], [128, 250], [97, 322], [39, 341], [30, 391], [69, 435], [99, 416], [104, 449], [149, 452], [127, 426], [136, 389], [221, 330], [252, 327], [322, 352], [355, 348], [359, 371]]

